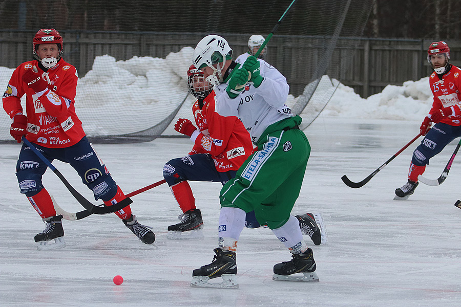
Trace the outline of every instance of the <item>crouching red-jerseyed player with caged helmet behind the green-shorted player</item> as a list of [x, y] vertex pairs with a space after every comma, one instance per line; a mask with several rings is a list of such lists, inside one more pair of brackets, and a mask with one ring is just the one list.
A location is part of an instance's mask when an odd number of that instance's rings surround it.
[[[163, 177], [170, 186], [182, 214], [180, 223], [168, 227], [171, 239], [200, 238], [203, 220], [195, 206], [192, 189], [187, 181], [221, 182], [235, 177], [238, 168], [253, 152], [253, 144], [243, 123], [235, 116], [224, 117], [215, 112], [216, 95], [213, 85], [205, 80], [203, 72], [191, 65], [187, 71], [189, 92], [197, 98], [192, 106], [195, 123], [180, 118], [175, 130], [191, 137], [194, 147], [188, 156], [172, 159], [163, 167]], [[312, 213], [296, 215], [304, 235], [314, 244], [321, 244], [321, 229]], [[245, 216], [245, 227], [258, 228], [255, 212]], [[326, 233], [324, 242], [326, 242]]]

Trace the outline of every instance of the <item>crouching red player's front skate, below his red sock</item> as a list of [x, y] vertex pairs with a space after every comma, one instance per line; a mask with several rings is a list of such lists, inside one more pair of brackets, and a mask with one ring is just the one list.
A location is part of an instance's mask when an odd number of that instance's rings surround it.
[[168, 226], [169, 239], [202, 239], [203, 220], [199, 209], [188, 210], [178, 216], [178, 224]]

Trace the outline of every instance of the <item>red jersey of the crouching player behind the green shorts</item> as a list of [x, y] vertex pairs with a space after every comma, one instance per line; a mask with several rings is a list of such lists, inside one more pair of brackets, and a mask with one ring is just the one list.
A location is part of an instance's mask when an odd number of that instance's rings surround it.
[[209, 153], [216, 170], [237, 170], [252, 154], [253, 144], [248, 131], [236, 116], [215, 112], [216, 95], [212, 91], [200, 108], [198, 100], [192, 106], [195, 122], [201, 131], [190, 154]]

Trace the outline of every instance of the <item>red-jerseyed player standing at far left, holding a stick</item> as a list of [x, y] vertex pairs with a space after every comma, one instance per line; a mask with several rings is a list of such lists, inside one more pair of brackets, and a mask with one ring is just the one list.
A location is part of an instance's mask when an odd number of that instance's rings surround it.
[[[97, 156], [78, 119], [74, 98], [77, 70], [62, 59], [62, 37], [55, 29], [40, 29], [33, 38], [33, 60], [20, 64], [13, 72], [3, 95], [3, 107], [13, 120], [10, 134], [18, 142], [26, 137], [51, 162], [69, 163], [82, 182], [106, 206], [123, 200], [125, 195]], [[26, 113], [20, 98], [26, 95]], [[56, 215], [50, 194], [41, 178], [47, 165], [23, 144], [16, 165], [21, 193], [43, 218], [46, 229], [35, 236], [37, 248], [65, 247], [62, 215]], [[152, 244], [154, 233], [140, 225], [131, 208], [115, 212], [143, 243]], [[49, 244], [54, 239], [54, 244]]]

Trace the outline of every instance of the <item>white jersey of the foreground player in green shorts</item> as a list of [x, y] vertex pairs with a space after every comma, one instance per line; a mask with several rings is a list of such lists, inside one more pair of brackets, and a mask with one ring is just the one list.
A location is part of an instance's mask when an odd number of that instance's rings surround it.
[[226, 93], [227, 83], [215, 86], [216, 112], [222, 116], [237, 116], [256, 144], [271, 124], [292, 116], [285, 105], [290, 89], [286, 78], [273, 66], [258, 59], [264, 80], [258, 88], [247, 83], [235, 99]]

